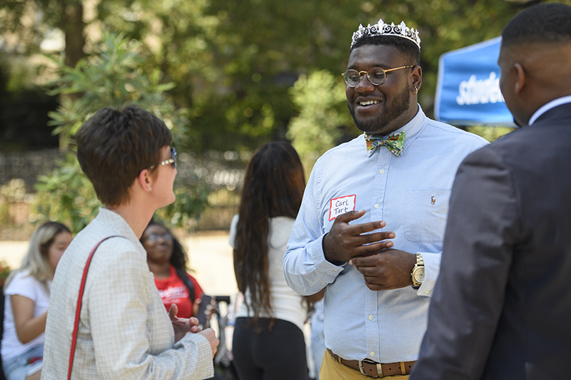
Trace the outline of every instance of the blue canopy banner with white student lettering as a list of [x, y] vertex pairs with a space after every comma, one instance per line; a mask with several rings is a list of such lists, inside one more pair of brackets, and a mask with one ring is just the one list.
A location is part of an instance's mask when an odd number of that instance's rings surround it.
[[434, 113], [453, 125], [511, 125], [512, 114], [500, 92], [501, 37], [440, 56]]

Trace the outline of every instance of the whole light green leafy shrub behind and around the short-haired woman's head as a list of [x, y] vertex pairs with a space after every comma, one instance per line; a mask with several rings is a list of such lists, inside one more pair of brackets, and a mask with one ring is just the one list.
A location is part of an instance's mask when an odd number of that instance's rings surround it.
[[[146, 56], [141, 53], [141, 43], [129, 41], [121, 35], [103, 34], [101, 43], [91, 56], [81, 59], [70, 68], [54, 59], [59, 65], [61, 77], [54, 83], [51, 94], [78, 94], [76, 98], [64, 98], [58, 110], [50, 113], [51, 125], [56, 133], [64, 136], [74, 147], [73, 136], [82, 123], [102, 107], [119, 108], [126, 103], [136, 103], [164, 120], [176, 136], [184, 134], [186, 110], [176, 108], [166, 91], [173, 83], [160, 83], [161, 72], [143, 70]], [[51, 175], [42, 175], [36, 184], [38, 219], [60, 220], [79, 232], [96, 215], [100, 203], [91, 183], [81, 172], [74, 153]], [[200, 215], [207, 204], [208, 191], [203, 184], [177, 180], [177, 201], [173, 207], [161, 210], [161, 217], [173, 225], [184, 225], [188, 218]], [[40, 216], [41, 215], [41, 216]]]

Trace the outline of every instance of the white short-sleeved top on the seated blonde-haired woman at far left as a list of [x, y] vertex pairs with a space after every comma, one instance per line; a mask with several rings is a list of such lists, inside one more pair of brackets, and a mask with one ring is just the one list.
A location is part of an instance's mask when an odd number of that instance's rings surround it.
[[[51, 287], [51, 281], [47, 281], [48, 289]], [[32, 277], [28, 271], [18, 272], [14, 274], [14, 278], [6, 288], [6, 298], [4, 299], [4, 334], [2, 335], [2, 359], [8, 360], [19, 354], [23, 354], [31, 347], [44, 344], [44, 333], [32, 339], [26, 344], [22, 344], [16, 334], [16, 325], [14, 324], [14, 312], [12, 311], [11, 296], [18, 294], [34, 301], [34, 318], [39, 317], [48, 310], [49, 291], [35, 277]]]

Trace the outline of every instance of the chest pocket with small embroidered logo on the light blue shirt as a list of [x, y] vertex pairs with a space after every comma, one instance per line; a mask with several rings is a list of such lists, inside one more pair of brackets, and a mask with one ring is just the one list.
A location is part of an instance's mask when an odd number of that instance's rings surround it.
[[410, 190], [405, 236], [411, 242], [442, 242], [450, 190]]

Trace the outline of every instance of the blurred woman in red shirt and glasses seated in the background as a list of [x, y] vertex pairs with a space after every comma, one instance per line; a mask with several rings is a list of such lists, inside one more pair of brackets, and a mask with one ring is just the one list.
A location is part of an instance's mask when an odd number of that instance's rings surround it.
[[196, 317], [204, 292], [186, 272], [186, 252], [181, 243], [166, 227], [151, 220], [141, 236], [141, 244], [147, 251], [148, 269], [153, 272], [167, 311], [176, 304], [177, 317]]

